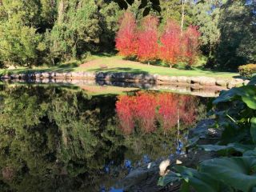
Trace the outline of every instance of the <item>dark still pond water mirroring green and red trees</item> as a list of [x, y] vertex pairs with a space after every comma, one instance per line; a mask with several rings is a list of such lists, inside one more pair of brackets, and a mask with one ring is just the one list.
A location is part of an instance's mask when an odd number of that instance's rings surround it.
[[[185, 153], [210, 98], [150, 90], [0, 86], [1, 191], [101, 191]], [[102, 190], [103, 191], [103, 190]]]

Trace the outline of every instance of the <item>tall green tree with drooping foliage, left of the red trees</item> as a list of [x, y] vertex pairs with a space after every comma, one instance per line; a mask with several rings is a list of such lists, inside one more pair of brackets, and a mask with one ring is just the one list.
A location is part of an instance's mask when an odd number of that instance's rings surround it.
[[102, 32], [94, 0], [61, 0], [58, 19], [51, 31], [53, 50], [62, 58], [77, 58], [94, 50]]

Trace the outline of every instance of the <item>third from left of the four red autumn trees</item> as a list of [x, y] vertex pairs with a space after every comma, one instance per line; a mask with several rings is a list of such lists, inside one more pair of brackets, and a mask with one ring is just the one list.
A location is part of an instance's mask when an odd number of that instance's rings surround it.
[[160, 38], [159, 58], [170, 67], [178, 62], [181, 54], [181, 29], [177, 22], [168, 21]]

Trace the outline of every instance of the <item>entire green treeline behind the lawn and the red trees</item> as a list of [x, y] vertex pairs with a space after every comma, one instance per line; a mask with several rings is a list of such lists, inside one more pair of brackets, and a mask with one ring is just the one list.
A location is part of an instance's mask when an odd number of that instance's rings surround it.
[[[0, 0], [0, 66], [56, 65], [90, 53], [114, 52], [124, 13], [112, 0]], [[183, 30], [198, 26], [201, 54], [209, 67], [237, 70], [256, 62], [256, 2], [160, 0], [161, 11], [127, 7], [139, 23], [153, 15], [163, 30], [174, 20]], [[121, 8], [122, 7], [122, 8]], [[148, 8], [148, 9], [147, 9]]]

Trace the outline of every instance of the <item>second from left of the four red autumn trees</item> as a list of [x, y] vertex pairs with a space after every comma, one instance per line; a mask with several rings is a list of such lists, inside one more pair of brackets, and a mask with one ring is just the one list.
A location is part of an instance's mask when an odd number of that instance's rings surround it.
[[138, 60], [150, 62], [158, 54], [158, 18], [146, 16], [142, 19], [141, 30], [138, 30]]

